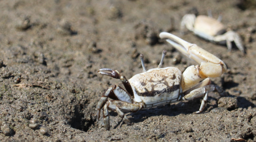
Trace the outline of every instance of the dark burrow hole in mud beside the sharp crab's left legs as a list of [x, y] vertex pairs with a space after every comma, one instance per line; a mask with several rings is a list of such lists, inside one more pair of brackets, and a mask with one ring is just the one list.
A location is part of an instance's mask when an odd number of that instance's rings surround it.
[[85, 118], [82, 111], [83, 108], [81, 105], [75, 106], [75, 112], [71, 114], [72, 117], [68, 120], [68, 123], [72, 128], [87, 132], [94, 125], [96, 119], [93, 119], [92, 116]]

